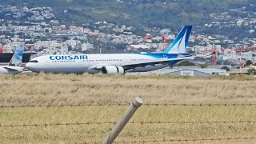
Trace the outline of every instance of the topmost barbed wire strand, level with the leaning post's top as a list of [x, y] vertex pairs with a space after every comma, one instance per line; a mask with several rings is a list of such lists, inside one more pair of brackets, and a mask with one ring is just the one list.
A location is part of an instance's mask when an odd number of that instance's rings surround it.
[[[129, 106], [130, 103], [110, 103], [110, 104], [78, 104], [78, 105], [24, 105], [24, 106], [0, 106], [0, 108], [26, 108], [26, 107], [78, 107], [78, 106]], [[256, 103], [146, 103], [142, 106], [256, 106]]]

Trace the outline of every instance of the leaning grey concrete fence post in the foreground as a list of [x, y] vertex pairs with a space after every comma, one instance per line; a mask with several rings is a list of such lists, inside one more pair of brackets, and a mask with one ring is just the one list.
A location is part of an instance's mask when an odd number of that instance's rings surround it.
[[122, 131], [123, 127], [126, 126], [126, 123], [134, 115], [135, 111], [138, 110], [138, 107], [142, 105], [141, 98], [134, 98], [133, 102], [130, 103], [128, 110], [123, 114], [122, 118], [115, 124], [114, 129], [110, 131], [110, 134], [107, 135], [102, 144], [111, 144], [114, 142], [114, 139], [118, 137], [118, 134]]

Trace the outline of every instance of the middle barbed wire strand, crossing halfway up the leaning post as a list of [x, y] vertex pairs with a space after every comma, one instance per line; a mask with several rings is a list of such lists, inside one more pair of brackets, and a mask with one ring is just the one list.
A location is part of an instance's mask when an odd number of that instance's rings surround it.
[[[214, 124], [214, 123], [256, 123], [256, 121], [194, 121], [194, 122], [179, 122], [179, 121], [170, 121], [170, 122], [129, 122], [128, 124]], [[37, 124], [11, 124], [11, 125], [2, 125], [0, 127], [29, 127], [29, 126], [81, 126], [81, 125], [102, 125], [102, 124], [116, 124], [116, 122], [70, 122], [70, 123], [37, 123]]]

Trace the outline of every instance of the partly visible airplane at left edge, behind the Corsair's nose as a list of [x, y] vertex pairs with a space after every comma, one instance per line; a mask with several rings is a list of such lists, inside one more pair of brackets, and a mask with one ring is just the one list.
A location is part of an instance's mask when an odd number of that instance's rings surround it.
[[19, 74], [23, 72], [22, 57], [24, 52], [24, 45], [19, 44], [16, 48], [13, 57], [7, 66], [0, 66], [0, 74]]

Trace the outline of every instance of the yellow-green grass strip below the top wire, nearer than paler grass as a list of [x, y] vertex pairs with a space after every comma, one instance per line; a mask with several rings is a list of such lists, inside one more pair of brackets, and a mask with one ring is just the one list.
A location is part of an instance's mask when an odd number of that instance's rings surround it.
[[[115, 122], [127, 106], [1, 109], [1, 125]], [[142, 106], [130, 122], [253, 121], [256, 106]], [[113, 124], [1, 127], [2, 142], [101, 142]], [[163, 138], [242, 138], [254, 136], [255, 123], [130, 123], [117, 141]]]

